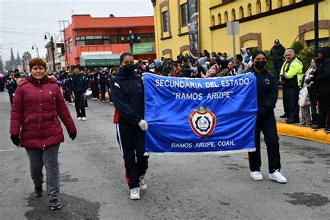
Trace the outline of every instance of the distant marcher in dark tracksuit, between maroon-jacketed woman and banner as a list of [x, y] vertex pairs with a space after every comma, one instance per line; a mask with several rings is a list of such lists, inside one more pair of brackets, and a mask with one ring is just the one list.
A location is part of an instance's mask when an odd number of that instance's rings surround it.
[[78, 120], [86, 120], [85, 100], [86, 95], [86, 79], [84, 75], [79, 74], [79, 66], [74, 66], [73, 74], [70, 77], [70, 92], [74, 95], [74, 105], [77, 111]]

